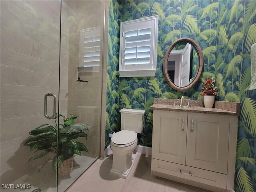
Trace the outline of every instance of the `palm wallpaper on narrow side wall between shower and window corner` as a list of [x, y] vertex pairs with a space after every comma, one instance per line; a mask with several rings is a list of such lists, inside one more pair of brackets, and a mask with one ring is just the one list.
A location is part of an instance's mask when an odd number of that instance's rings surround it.
[[[105, 148], [110, 144], [108, 133], [120, 130], [119, 113], [119, 43], [120, 43], [120, 16], [122, 5], [118, 1], [110, 0], [108, 22], [108, 65], [106, 90], [106, 134]], [[130, 106], [131, 108], [131, 106]]]

